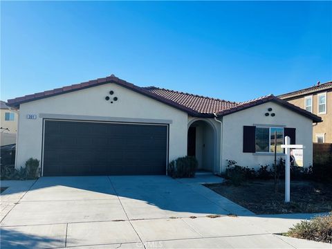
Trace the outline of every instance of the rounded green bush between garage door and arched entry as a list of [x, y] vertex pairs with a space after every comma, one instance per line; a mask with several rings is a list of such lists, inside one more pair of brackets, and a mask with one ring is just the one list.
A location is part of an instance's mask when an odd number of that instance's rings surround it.
[[172, 160], [168, 165], [168, 175], [173, 178], [194, 177], [199, 163], [194, 156], [184, 156]]

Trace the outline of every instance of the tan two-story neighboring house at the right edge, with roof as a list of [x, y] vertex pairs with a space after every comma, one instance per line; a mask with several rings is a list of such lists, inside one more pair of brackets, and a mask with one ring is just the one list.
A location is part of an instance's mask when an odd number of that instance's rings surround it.
[[313, 142], [332, 143], [332, 82], [318, 82], [278, 97], [320, 116], [323, 122], [313, 124]]

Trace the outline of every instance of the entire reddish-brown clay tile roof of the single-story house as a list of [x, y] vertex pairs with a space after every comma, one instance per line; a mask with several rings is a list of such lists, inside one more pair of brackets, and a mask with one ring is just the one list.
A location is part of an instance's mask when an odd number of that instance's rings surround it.
[[[30, 95], [25, 95], [19, 98], [14, 98], [8, 100], [8, 105], [10, 107], [18, 108], [20, 104], [39, 100], [42, 98], [49, 98], [55, 95], [70, 93], [72, 91], [78, 91], [81, 89], [86, 89], [93, 86], [99, 86], [101, 84], [114, 83], [120, 86], [123, 86], [131, 91], [136, 91], [142, 95], [145, 95], [154, 100], [158, 100], [169, 106], [172, 106], [181, 111], [185, 111], [191, 116], [195, 117], [205, 117], [213, 118], [215, 116], [221, 117], [234, 113], [236, 111], [241, 111], [249, 107], [254, 107], [258, 104], [263, 104], [268, 101], [277, 102], [282, 106], [297, 111], [308, 118], [311, 118], [314, 122], [321, 122], [321, 118], [315, 116], [313, 113], [310, 113], [295, 105], [286, 102], [286, 100], [281, 100], [274, 95], [267, 95], [254, 100], [248, 100], [246, 102], [230, 102], [227, 100], [219, 100], [216, 98], [204, 97], [201, 95], [194, 95], [190, 93], [183, 93], [179, 91], [173, 91], [168, 89], [160, 89], [156, 86], [140, 87], [125, 80], [121, 80], [115, 75], [110, 75], [108, 77], [99, 78], [97, 80], [89, 80], [89, 82], [82, 82], [80, 84], [73, 84], [71, 86], [64, 86], [58, 89], [43, 91], [40, 93], [34, 93]], [[331, 83], [331, 82], [330, 82]]]

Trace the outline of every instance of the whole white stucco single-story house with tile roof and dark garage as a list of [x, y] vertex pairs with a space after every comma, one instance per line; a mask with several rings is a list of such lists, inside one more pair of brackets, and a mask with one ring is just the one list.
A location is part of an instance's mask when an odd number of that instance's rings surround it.
[[196, 156], [199, 169], [219, 174], [227, 160], [273, 163], [284, 136], [302, 144], [312, 164], [312, 125], [321, 118], [274, 95], [229, 102], [118, 77], [8, 100], [19, 108], [17, 168], [41, 162], [42, 176], [167, 174], [170, 160]]

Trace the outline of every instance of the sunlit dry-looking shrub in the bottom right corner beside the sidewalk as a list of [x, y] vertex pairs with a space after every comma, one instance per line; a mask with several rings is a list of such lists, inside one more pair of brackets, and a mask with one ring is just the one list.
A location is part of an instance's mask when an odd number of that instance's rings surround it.
[[297, 223], [287, 235], [298, 239], [332, 243], [332, 212], [328, 215], [316, 216], [310, 221]]

